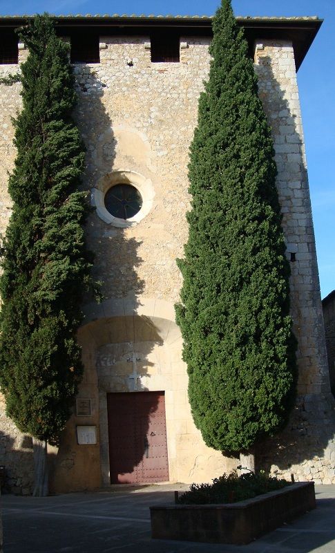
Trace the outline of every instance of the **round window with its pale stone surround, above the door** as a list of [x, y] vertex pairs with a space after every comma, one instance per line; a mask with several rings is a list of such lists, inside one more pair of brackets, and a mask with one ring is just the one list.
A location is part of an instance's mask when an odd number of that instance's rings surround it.
[[92, 190], [96, 214], [114, 227], [133, 227], [149, 213], [155, 191], [150, 179], [135, 171], [111, 171]]

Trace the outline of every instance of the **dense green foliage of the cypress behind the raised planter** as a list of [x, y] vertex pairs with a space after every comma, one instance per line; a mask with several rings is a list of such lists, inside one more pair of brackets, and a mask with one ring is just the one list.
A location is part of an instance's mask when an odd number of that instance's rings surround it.
[[176, 312], [195, 425], [210, 447], [238, 452], [287, 424], [296, 339], [271, 132], [229, 0], [213, 19], [210, 53]]

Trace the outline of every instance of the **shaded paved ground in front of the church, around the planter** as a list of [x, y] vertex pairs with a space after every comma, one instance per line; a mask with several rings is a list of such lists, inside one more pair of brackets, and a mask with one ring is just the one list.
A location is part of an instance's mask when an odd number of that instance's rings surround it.
[[334, 553], [335, 485], [316, 486], [317, 508], [249, 545], [151, 539], [149, 507], [182, 485], [112, 488], [48, 498], [1, 498], [3, 553]]

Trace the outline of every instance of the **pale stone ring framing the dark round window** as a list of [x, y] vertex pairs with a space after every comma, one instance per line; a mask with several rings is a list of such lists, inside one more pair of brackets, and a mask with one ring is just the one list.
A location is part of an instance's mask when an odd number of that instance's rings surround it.
[[[135, 187], [142, 196], [142, 207], [140, 211], [129, 219], [120, 219], [109, 213], [105, 207], [104, 198], [106, 192], [115, 185], [126, 184]], [[153, 205], [155, 191], [151, 179], [144, 177], [130, 169], [118, 169], [104, 175], [92, 189], [90, 203], [95, 207], [97, 216], [113, 227], [129, 228], [138, 225], [142, 219], [149, 214]]]

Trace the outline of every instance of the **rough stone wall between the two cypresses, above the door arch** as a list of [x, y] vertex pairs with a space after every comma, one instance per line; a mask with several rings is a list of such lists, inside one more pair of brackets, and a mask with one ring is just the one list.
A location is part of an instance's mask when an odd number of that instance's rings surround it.
[[180, 64], [151, 64], [148, 43], [149, 37], [103, 37], [101, 64], [75, 68], [77, 120], [88, 147], [86, 189], [112, 170], [130, 169], [151, 179], [155, 190], [140, 225], [117, 229], [94, 214], [88, 241], [107, 298], [135, 293], [175, 302], [181, 285], [175, 259], [187, 236], [188, 149], [209, 41], [188, 39]]

